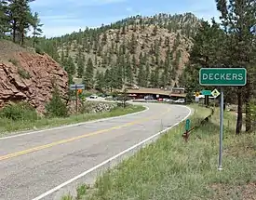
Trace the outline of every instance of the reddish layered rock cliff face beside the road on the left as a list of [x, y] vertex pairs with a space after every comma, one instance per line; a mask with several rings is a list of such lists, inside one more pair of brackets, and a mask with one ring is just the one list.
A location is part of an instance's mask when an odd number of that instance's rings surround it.
[[14, 59], [0, 60], [0, 108], [10, 101], [26, 100], [38, 113], [52, 97], [52, 80], [65, 99], [68, 91], [68, 74], [47, 55], [20, 52]]

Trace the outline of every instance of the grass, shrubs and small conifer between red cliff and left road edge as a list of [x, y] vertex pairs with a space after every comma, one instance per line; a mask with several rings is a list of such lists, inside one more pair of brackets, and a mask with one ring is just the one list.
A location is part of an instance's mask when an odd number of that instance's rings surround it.
[[123, 103], [89, 102], [83, 99], [80, 97], [78, 113], [75, 113], [74, 106], [68, 106], [61, 99], [57, 89], [53, 92], [52, 100], [46, 104], [45, 115], [39, 115], [34, 107], [24, 101], [9, 104], [0, 111], [0, 137], [14, 131], [59, 127], [145, 109], [143, 106], [128, 103], [124, 107]]

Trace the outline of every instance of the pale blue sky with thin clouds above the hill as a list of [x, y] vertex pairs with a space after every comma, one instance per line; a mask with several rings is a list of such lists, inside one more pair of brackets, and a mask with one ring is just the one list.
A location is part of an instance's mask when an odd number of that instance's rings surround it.
[[47, 37], [98, 27], [128, 16], [192, 12], [198, 18], [219, 17], [215, 0], [35, 0]]

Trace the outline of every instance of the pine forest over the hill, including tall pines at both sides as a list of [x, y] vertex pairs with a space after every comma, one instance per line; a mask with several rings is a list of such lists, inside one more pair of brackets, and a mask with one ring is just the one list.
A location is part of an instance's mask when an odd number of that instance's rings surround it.
[[[237, 104], [237, 134], [243, 110], [248, 132], [256, 122], [256, 33], [251, 29], [256, 24], [255, 0], [216, 0], [220, 23], [198, 20], [191, 13], [135, 16], [49, 39], [40, 37], [42, 24], [29, 2], [0, 1], [1, 38], [46, 52], [69, 73], [70, 83], [78, 77], [88, 89], [99, 90], [124, 84], [168, 87], [176, 83], [191, 97], [206, 88], [198, 83], [200, 68], [245, 67], [247, 85], [224, 87], [225, 101]], [[27, 37], [31, 27], [34, 34]]]

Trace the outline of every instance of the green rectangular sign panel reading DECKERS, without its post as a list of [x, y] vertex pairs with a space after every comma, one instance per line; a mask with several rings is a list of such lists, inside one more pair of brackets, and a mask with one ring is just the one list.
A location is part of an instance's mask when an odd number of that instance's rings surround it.
[[245, 68], [201, 68], [199, 83], [201, 86], [245, 86], [247, 70]]

